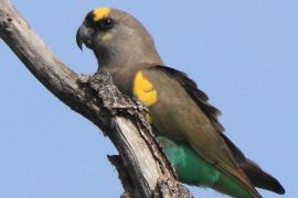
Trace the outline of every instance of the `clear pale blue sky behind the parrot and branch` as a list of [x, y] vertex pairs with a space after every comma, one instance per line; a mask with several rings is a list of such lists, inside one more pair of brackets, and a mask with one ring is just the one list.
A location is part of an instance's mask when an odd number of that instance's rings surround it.
[[[13, 4], [73, 70], [94, 55], [75, 33], [96, 7], [125, 10], [148, 29], [168, 66], [185, 72], [221, 109], [225, 134], [298, 197], [298, 1], [52, 0]], [[0, 41], [0, 197], [98, 198], [123, 193], [114, 145], [53, 97]], [[194, 197], [213, 190], [190, 188]], [[264, 197], [277, 196], [259, 190]]]

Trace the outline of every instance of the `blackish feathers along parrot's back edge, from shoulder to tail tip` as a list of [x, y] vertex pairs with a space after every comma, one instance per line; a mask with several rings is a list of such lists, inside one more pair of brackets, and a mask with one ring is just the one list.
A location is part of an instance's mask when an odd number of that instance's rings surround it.
[[[188, 94], [209, 118], [215, 131], [220, 133], [224, 131], [223, 125], [217, 120], [221, 111], [207, 102], [209, 97], [202, 90], [198, 89], [196, 84], [192, 79], [190, 79], [184, 73], [170, 67], [158, 66], [157, 68], [173, 76], [184, 87]], [[240, 148], [237, 148], [223, 133], [221, 133], [221, 136], [231, 150], [236, 163], [244, 170], [254, 186], [268, 189], [277, 194], [285, 194], [285, 189], [276, 178], [264, 172], [253, 161], [246, 158]]]

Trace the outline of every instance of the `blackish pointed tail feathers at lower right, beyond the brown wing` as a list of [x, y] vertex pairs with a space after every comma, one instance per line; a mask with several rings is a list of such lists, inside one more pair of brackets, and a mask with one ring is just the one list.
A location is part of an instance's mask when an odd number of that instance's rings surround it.
[[267, 189], [280, 195], [285, 194], [284, 187], [276, 178], [264, 172], [256, 163], [246, 158], [242, 151], [223, 133], [221, 133], [221, 135], [232, 151], [240, 167], [245, 172], [255, 187]]

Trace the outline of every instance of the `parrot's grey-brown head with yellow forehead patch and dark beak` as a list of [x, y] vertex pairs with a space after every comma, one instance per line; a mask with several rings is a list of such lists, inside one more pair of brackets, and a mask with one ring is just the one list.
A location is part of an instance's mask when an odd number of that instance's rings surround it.
[[161, 62], [147, 30], [117, 9], [92, 10], [77, 30], [76, 42], [81, 50], [83, 44], [91, 48], [100, 66]]

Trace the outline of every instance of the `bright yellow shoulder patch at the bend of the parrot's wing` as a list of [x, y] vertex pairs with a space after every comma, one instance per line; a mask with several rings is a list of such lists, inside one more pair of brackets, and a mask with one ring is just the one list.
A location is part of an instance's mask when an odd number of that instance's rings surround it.
[[134, 78], [132, 95], [147, 107], [152, 106], [157, 101], [157, 90], [149, 79], [142, 75], [141, 70]]

